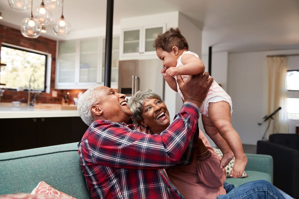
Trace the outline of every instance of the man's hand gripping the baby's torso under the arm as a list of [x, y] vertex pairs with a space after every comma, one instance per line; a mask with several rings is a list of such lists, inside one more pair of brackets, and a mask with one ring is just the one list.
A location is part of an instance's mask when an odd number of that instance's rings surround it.
[[200, 107], [214, 80], [212, 77], [209, 78], [208, 72], [201, 72], [197, 75], [190, 75], [186, 82], [178, 75], [176, 81], [185, 101], [192, 102]]

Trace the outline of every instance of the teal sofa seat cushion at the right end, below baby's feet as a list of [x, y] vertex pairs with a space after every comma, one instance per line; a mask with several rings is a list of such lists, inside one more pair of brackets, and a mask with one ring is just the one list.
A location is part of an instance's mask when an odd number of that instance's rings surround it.
[[235, 187], [244, 184], [246, 182], [255, 181], [255, 180], [266, 180], [271, 182], [271, 175], [259, 171], [248, 171], [246, 170], [248, 177], [247, 178], [226, 178], [225, 182], [229, 184], [234, 184]]

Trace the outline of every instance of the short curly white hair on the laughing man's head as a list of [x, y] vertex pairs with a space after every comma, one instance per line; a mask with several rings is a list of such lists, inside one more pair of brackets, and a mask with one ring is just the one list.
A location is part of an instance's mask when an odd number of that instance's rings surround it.
[[77, 110], [83, 122], [90, 126], [94, 118], [91, 114], [90, 108], [92, 105], [97, 104], [99, 100], [99, 92], [98, 89], [101, 86], [95, 85], [84, 92], [77, 102]]

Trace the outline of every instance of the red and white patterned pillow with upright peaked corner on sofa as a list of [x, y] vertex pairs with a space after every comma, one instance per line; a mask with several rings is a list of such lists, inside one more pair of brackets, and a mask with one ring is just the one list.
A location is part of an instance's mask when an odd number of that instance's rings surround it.
[[54, 189], [52, 186], [48, 185], [44, 181], [38, 183], [38, 185], [31, 192], [31, 195], [55, 195], [60, 196], [63, 199], [76, 199], [71, 197], [70, 195], [58, 191], [57, 189]]

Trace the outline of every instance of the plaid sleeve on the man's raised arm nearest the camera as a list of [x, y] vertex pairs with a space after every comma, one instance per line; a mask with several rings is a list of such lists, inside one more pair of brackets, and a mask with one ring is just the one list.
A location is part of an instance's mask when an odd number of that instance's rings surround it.
[[[93, 164], [127, 168], [168, 168], [179, 163], [196, 132], [198, 107], [185, 102], [173, 123], [160, 135], [147, 135], [110, 121], [95, 121], [83, 145]], [[188, 161], [187, 161], [188, 162]]]

